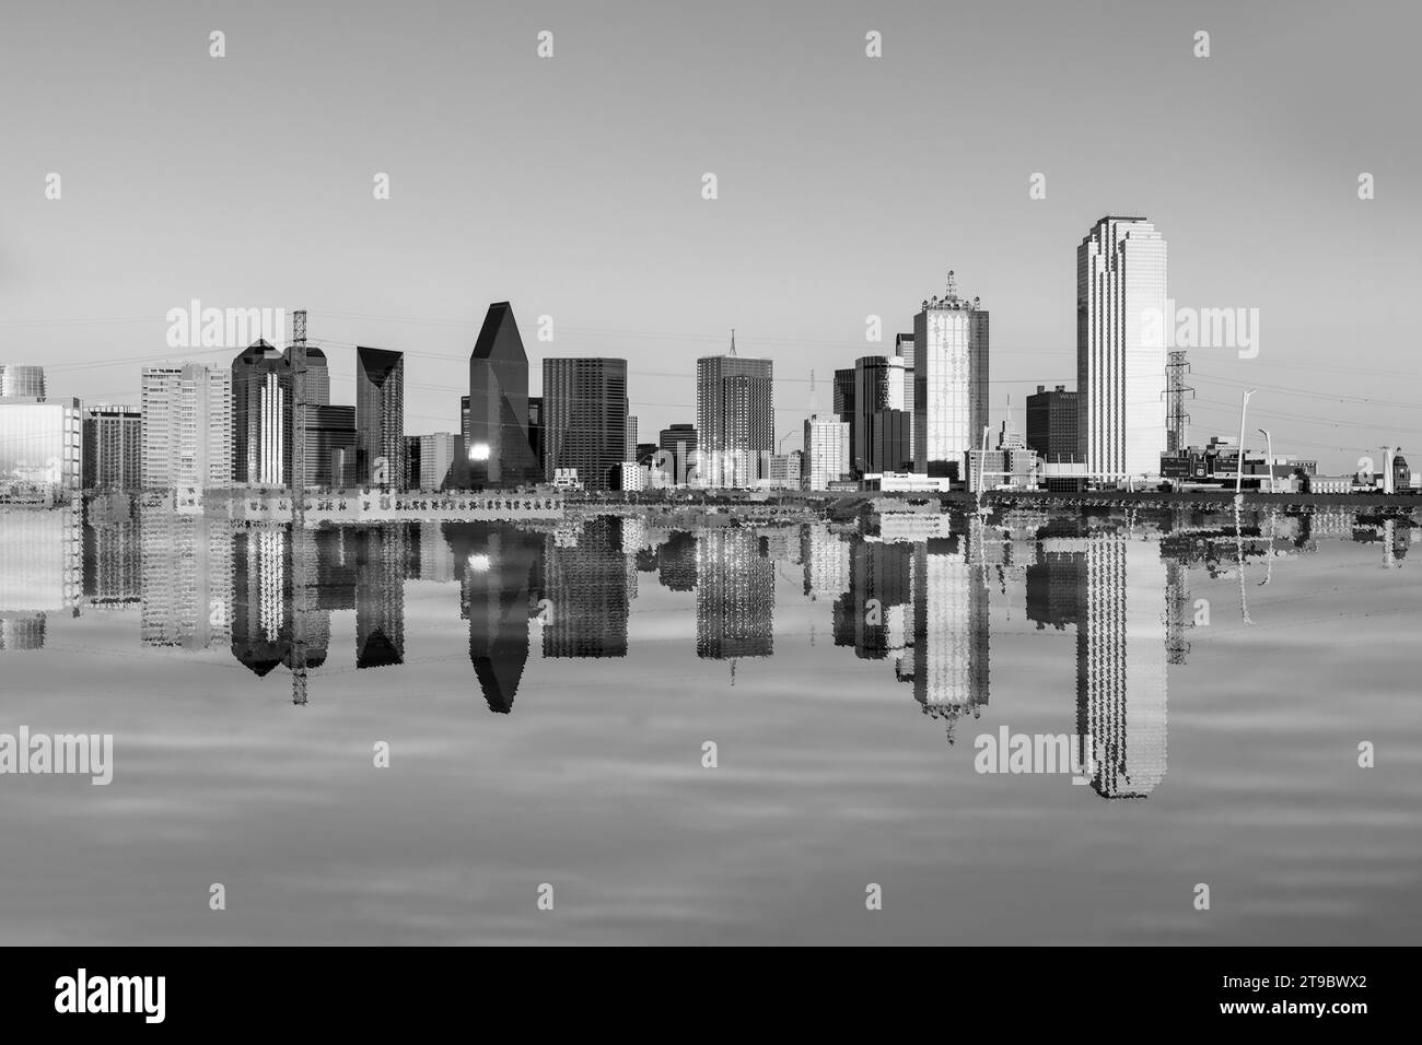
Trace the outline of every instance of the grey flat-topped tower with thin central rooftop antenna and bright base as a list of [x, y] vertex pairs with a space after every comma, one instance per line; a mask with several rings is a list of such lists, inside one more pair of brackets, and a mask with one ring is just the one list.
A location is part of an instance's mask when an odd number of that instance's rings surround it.
[[747, 488], [762, 478], [761, 462], [775, 449], [772, 381], [771, 360], [697, 360], [700, 486]]

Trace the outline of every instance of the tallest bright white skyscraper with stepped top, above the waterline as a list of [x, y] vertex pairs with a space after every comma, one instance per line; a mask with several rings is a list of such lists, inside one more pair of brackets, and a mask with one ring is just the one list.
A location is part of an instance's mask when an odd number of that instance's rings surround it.
[[1102, 218], [1076, 249], [1078, 439], [1086, 475], [1160, 473], [1166, 448], [1165, 239], [1143, 218]]

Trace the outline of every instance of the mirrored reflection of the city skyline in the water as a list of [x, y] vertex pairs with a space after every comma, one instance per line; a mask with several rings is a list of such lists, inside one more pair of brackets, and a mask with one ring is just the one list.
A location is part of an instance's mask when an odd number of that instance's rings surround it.
[[1382, 566], [1398, 567], [1415, 532], [1409, 519], [1357, 512], [1182, 508], [903, 513], [865, 533], [826, 523], [687, 532], [620, 516], [542, 529], [390, 523], [299, 530], [293, 545], [286, 526], [102, 500], [0, 520], [0, 650], [43, 648], [57, 613], [137, 610], [144, 647], [226, 648], [257, 678], [283, 665], [304, 702], [336, 613], [354, 613], [356, 670], [398, 670], [405, 583], [428, 580], [458, 586], [474, 684], [491, 711], [509, 714], [535, 643], [545, 658], [629, 657], [641, 573], [694, 594], [697, 660], [734, 671], [741, 658], [772, 657], [779, 573], [798, 580], [835, 647], [884, 661], [886, 682], [957, 744], [960, 722], [988, 707], [994, 607], [1001, 600], [1011, 616], [1021, 593], [1034, 630], [1075, 631], [1075, 714], [1059, 728], [1092, 738], [1094, 789], [1143, 798], [1166, 775], [1167, 674], [1187, 664], [1199, 613], [1192, 570], [1237, 577], [1249, 623], [1250, 589], [1268, 584], [1276, 563], [1348, 540], [1379, 545]]

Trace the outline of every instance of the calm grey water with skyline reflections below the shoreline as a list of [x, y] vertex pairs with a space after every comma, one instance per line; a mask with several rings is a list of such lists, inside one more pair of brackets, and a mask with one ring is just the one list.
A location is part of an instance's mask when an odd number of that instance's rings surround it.
[[1416, 943], [1418, 535], [10, 510], [0, 731], [115, 769], [0, 776], [0, 943]]

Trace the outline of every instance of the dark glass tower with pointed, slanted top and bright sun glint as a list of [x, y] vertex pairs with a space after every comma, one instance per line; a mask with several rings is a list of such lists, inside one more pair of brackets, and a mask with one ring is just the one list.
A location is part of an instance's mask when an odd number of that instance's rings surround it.
[[518, 485], [543, 473], [529, 439], [529, 357], [508, 301], [489, 306], [469, 355], [469, 424], [461, 479]]

